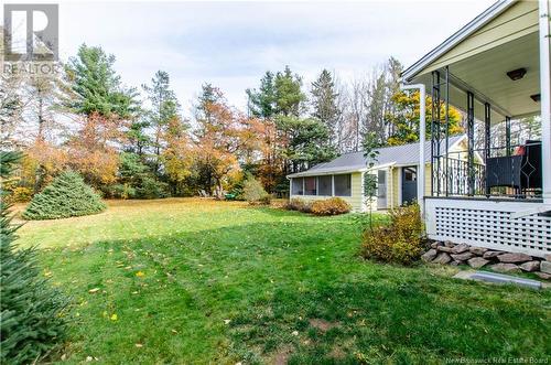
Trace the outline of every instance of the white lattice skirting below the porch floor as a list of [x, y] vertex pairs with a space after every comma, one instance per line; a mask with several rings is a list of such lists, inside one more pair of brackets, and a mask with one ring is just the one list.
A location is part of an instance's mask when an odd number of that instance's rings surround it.
[[426, 233], [432, 239], [543, 257], [551, 254], [551, 217], [511, 218], [512, 213], [538, 205], [541, 203], [425, 198]]

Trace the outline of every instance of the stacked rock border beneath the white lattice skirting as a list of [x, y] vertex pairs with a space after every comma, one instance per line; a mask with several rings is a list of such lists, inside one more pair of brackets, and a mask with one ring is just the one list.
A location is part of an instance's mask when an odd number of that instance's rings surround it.
[[503, 273], [532, 272], [540, 279], [551, 280], [551, 254], [544, 258], [527, 254], [500, 251], [467, 244], [432, 241], [421, 259], [441, 265], [468, 265], [473, 269], [488, 267]]

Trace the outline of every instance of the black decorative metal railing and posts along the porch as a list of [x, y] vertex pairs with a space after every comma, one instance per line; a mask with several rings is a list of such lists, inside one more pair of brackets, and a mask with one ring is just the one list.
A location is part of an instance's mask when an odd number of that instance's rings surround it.
[[[467, 88], [466, 136], [464, 151], [450, 151], [450, 85], [461, 84], [450, 67], [432, 72], [431, 109], [431, 195], [432, 196], [504, 196], [541, 198], [541, 141], [527, 140], [511, 144], [511, 118], [505, 117], [505, 146], [495, 146], [491, 135], [493, 107], [484, 97]], [[475, 133], [475, 101], [484, 106], [482, 130]], [[482, 137], [476, 141], [475, 137]], [[477, 148], [482, 146], [482, 148]], [[551, 169], [551, 167], [545, 167]]]

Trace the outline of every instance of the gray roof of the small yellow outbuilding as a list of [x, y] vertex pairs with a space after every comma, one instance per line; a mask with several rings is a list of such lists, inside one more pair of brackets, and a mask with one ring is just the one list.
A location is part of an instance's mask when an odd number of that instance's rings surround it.
[[[449, 146], [451, 147], [457, 143], [465, 137], [465, 135], [450, 137]], [[444, 149], [443, 144], [444, 143], [441, 144], [442, 150]], [[379, 153], [377, 155], [375, 167], [387, 164], [408, 165], [419, 163], [419, 142], [402, 146], [382, 147], [376, 149], [376, 151], [378, 151]], [[424, 161], [431, 161], [431, 141], [426, 141], [424, 143]], [[368, 159], [364, 157], [364, 151], [345, 153], [333, 161], [316, 164], [315, 167], [306, 171], [292, 173], [288, 175], [288, 178], [356, 172], [367, 170], [367, 162]]]

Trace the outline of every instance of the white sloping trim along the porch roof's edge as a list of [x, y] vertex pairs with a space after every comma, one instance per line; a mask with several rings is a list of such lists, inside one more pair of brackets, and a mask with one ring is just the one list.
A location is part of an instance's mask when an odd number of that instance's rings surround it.
[[486, 25], [489, 21], [491, 21], [495, 17], [499, 15], [506, 9], [508, 9], [516, 0], [500, 0], [494, 3], [491, 7], [486, 9], [478, 17], [473, 19], [457, 32], [452, 34], [447, 40], [442, 42], [439, 46], [433, 49], [431, 52], [421, 57], [418, 62], [408, 67], [404, 72], [402, 72], [402, 79], [404, 83], [411, 82], [411, 79], [418, 74], [426, 68], [432, 62], [437, 60], [440, 56], [444, 55], [446, 52], [452, 50], [454, 46], [463, 42], [471, 34]]

